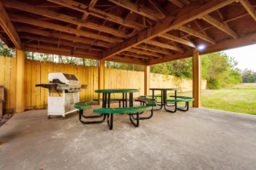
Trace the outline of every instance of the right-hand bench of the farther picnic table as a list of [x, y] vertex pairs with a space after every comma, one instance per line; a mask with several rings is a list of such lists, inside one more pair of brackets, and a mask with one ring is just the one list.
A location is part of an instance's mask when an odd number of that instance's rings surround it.
[[[174, 95], [170, 95], [171, 98], [175, 98]], [[166, 99], [166, 103], [174, 103], [173, 106], [175, 106], [175, 110], [177, 111], [189, 111], [189, 102], [194, 101], [193, 98], [186, 97], [186, 96], [176, 96], [176, 99]], [[177, 103], [179, 102], [185, 102], [186, 105], [183, 108], [178, 108]], [[170, 106], [170, 105], [169, 105]]]

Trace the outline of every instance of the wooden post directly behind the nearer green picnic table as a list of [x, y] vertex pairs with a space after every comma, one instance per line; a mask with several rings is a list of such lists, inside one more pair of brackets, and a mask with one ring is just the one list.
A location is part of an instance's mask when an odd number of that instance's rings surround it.
[[[105, 61], [98, 60], [98, 89], [105, 89]], [[102, 99], [102, 94], [99, 94], [99, 99]], [[102, 102], [100, 102], [102, 105]]]

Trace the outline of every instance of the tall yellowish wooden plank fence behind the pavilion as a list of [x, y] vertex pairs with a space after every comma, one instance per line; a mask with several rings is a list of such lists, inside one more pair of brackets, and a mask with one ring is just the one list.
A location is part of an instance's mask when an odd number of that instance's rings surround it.
[[[98, 69], [95, 66], [67, 65], [52, 62], [40, 62], [26, 59], [25, 61], [25, 93], [26, 109], [43, 109], [48, 104], [48, 91], [46, 88], [36, 88], [38, 83], [49, 82], [48, 74], [63, 72], [74, 74], [81, 84], [88, 88], [80, 92], [80, 101], [92, 100], [98, 95]], [[181, 79], [160, 74], [150, 74], [150, 88], [181, 88], [182, 91], [192, 90], [192, 80]], [[5, 88], [4, 112], [15, 111], [16, 96], [16, 59], [0, 57], [0, 85]], [[202, 82], [202, 89], [206, 89], [207, 81]], [[105, 88], [137, 88], [139, 92], [134, 96], [144, 94], [144, 73], [142, 71], [125, 71], [105, 68]], [[121, 94], [112, 94], [121, 97]]]

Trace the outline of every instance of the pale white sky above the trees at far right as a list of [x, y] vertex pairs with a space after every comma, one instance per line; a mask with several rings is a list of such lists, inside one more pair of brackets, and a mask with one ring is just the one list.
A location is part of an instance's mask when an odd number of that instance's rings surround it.
[[235, 58], [238, 62], [237, 68], [256, 71], [256, 45], [225, 50], [224, 53]]

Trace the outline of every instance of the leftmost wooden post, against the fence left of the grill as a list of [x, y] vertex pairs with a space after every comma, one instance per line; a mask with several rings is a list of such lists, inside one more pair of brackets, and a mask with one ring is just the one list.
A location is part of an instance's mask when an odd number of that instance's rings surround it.
[[17, 61], [16, 113], [25, 111], [25, 51], [15, 48]]

